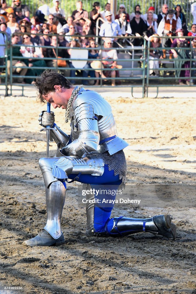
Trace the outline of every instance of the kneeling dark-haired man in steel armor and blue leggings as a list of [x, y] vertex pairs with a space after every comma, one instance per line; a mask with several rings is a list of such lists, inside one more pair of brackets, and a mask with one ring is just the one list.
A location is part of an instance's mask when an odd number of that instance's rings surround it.
[[[84, 183], [88, 188], [122, 188], [125, 185], [126, 161], [123, 149], [128, 146], [118, 137], [116, 124], [109, 103], [95, 91], [85, 90], [83, 85], [72, 84], [61, 74], [44, 71], [35, 83], [41, 102], [49, 102], [53, 108], [66, 109], [65, 121], [71, 119], [71, 134], [66, 135], [55, 123], [54, 113], [42, 111], [40, 124], [50, 126], [50, 136], [57, 143], [53, 158], [41, 158], [39, 166], [46, 186], [47, 223], [34, 238], [25, 241], [27, 246], [51, 246], [64, 244], [61, 230], [66, 180]], [[99, 189], [96, 189], [98, 191]], [[107, 197], [115, 199], [108, 193]], [[103, 198], [88, 194], [86, 200]], [[176, 236], [175, 225], [169, 215], [135, 219], [124, 216], [110, 218], [112, 204], [99, 205], [87, 201], [86, 236], [129, 235], [150, 232], [169, 240]]]

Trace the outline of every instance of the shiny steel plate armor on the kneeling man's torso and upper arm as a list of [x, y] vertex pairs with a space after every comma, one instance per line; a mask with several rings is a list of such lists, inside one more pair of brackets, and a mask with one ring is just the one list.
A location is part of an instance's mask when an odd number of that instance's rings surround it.
[[66, 155], [83, 156], [97, 151], [110, 155], [128, 146], [118, 137], [109, 103], [98, 93], [81, 88], [70, 108], [73, 142], [63, 148]]

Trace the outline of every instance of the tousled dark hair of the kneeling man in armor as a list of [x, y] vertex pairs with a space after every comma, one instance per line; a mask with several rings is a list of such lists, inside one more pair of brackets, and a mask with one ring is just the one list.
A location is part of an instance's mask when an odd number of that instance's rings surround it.
[[62, 74], [53, 72], [51, 69], [43, 71], [43, 73], [36, 78], [35, 86], [37, 88], [38, 99], [40, 102], [46, 102], [43, 96], [48, 95], [50, 92], [54, 92], [54, 86], [60, 85], [61, 88], [69, 89], [72, 87], [70, 81]]

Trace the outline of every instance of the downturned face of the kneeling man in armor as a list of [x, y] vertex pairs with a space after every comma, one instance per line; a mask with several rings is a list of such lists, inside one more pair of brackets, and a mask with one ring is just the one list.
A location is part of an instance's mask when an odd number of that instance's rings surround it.
[[[62, 92], [62, 89], [60, 86], [55, 85], [54, 86], [55, 91], [49, 92], [48, 96], [43, 96], [43, 98], [52, 104], [53, 108], [62, 108], [67, 109], [68, 100], [70, 98], [70, 95], [68, 94], [68, 91]], [[69, 90], [69, 89], [66, 89]], [[67, 93], [66, 93], [67, 92]]]

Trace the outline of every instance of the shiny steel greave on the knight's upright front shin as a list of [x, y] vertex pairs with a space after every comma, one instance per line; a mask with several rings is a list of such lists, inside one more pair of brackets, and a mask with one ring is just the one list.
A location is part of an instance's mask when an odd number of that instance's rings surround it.
[[66, 188], [55, 181], [46, 188], [47, 223], [44, 229], [54, 238], [61, 236], [61, 215], [65, 202]]

